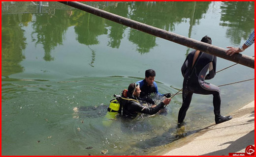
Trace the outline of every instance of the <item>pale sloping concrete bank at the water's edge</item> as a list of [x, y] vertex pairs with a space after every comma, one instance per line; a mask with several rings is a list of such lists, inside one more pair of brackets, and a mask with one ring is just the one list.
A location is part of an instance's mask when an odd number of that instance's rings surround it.
[[190, 136], [170, 144], [165, 156], [228, 156], [228, 153], [245, 153], [255, 145], [255, 102], [232, 113], [233, 119], [206, 127]]

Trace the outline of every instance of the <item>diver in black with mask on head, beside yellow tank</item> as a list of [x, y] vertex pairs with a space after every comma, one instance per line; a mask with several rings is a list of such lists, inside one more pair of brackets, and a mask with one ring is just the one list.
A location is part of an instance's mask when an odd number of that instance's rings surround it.
[[129, 116], [129, 117], [136, 117], [137, 114], [140, 113], [146, 113], [146, 114], [156, 114], [161, 108], [164, 107], [164, 105], [168, 105], [171, 101], [171, 99], [164, 99], [159, 105], [156, 105], [155, 107], [147, 107], [143, 106], [138, 102], [138, 98], [140, 95], [140, 87], [139, 83], [131, 83], [128, 87], [127, 92], [127, 99], [120, 102], [120, 104], [123, 106], [123, 115]]

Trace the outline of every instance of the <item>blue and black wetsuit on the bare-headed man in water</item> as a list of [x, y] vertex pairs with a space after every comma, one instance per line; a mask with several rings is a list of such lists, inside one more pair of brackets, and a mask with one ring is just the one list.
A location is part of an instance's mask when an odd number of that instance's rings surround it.
[[148, 86], [148, 83], [146, 82], [146, 79], [137, 81], [136, 83], [139, 83], [140, 86], [140, 98], [144, 98], [149, 96], [151, 93], [156, 93], [158, 95], [162, 95], [161, 93], [159, 93], [158, 91], [158, 85], [157, 83], [154, 81], [152, 85]]

